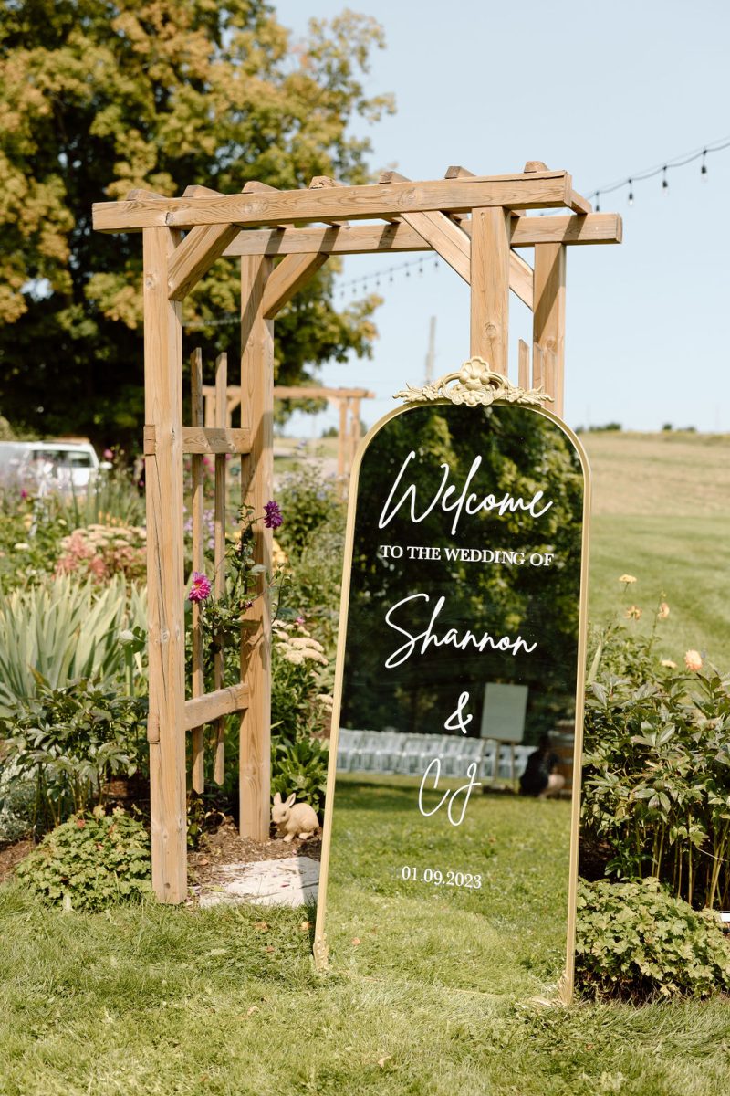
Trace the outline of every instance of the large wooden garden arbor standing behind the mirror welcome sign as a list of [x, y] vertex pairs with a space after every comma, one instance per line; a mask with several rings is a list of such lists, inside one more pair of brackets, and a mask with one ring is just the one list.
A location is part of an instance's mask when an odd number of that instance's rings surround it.
[[[566, 213], [526, 215], [545, 208]], [[286, 192], [263, 183], [247, 183], [241, 194], [194, 186], [178, 198], [135, 191], [124, 202], [96, 204], [93, 216], [100, 231], [142, 232], [152, 880], [162, 901], [181, 902], [186, 732], [242, 712], [241, 832], [257, 840], [268, 835], [270, 749], [266, 597], [255, 602], [244, 632], [251, 638], [242, 643], [241, 684], [185, 699], [183, 455], [240, 454], [245, 501], [263, 511], [273, 476], [273, 320], [331, 254], [436, 251], [471, 285], [468, 354], [505, 375], [509, 293], [517, 293], [534, 313], [532, 383], [544, 384], [561, 413], [566, 249], [619, 242], [621, 219], [593, 214], [567, 172], [538, 162], [509, 175], [450, 168], [443, 180], [418, 183], [386, 172], [368, 186], [317, 178]], [[534, 247], [534, 270], [514, 250], [525, 247]], [[182, 302], [223, 255], [241, 260], [241, 426], [186, 427]], [[526, 347], [520, 356], [525, 380]], [[256, 552], [268, 566], [268, 530], [257, 535]]]

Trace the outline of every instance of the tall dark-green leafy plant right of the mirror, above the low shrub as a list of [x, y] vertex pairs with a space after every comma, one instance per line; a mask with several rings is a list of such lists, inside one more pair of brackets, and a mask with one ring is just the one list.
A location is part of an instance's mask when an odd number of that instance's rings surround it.
[[[627, 641], [628, 642], [628, 641]], [[730, 894], [730, 681], [654, 663], [587, 697], [583, 838], [606, 872], [657, 876], [695, 905]]]

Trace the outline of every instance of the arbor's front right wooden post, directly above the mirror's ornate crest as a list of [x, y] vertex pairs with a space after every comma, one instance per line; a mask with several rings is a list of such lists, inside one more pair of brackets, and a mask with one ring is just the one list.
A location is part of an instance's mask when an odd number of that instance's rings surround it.
[[507, 376], [510, 247], [508, 218], [500, 207], [472, 215], [471, 354]]

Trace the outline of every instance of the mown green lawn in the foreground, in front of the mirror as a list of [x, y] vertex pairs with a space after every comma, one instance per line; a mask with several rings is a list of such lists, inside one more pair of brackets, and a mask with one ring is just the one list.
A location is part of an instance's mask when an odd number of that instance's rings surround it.
[[410, 952], [386, 979], [316, 975], [303, 916], [152, 903], [65, 915], [0, 888], [0, 1093], [727, 1092], [727, 1001], [545, 1008], [419, 981]]

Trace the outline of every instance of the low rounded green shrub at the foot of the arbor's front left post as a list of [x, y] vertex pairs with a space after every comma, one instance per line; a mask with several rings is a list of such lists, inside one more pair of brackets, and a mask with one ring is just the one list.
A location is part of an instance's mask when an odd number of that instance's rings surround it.
[[140, 822], [115, 810], [74, 814], [15, 869], [51, 905], [96, 911], [151, 892], [150, 841]]

